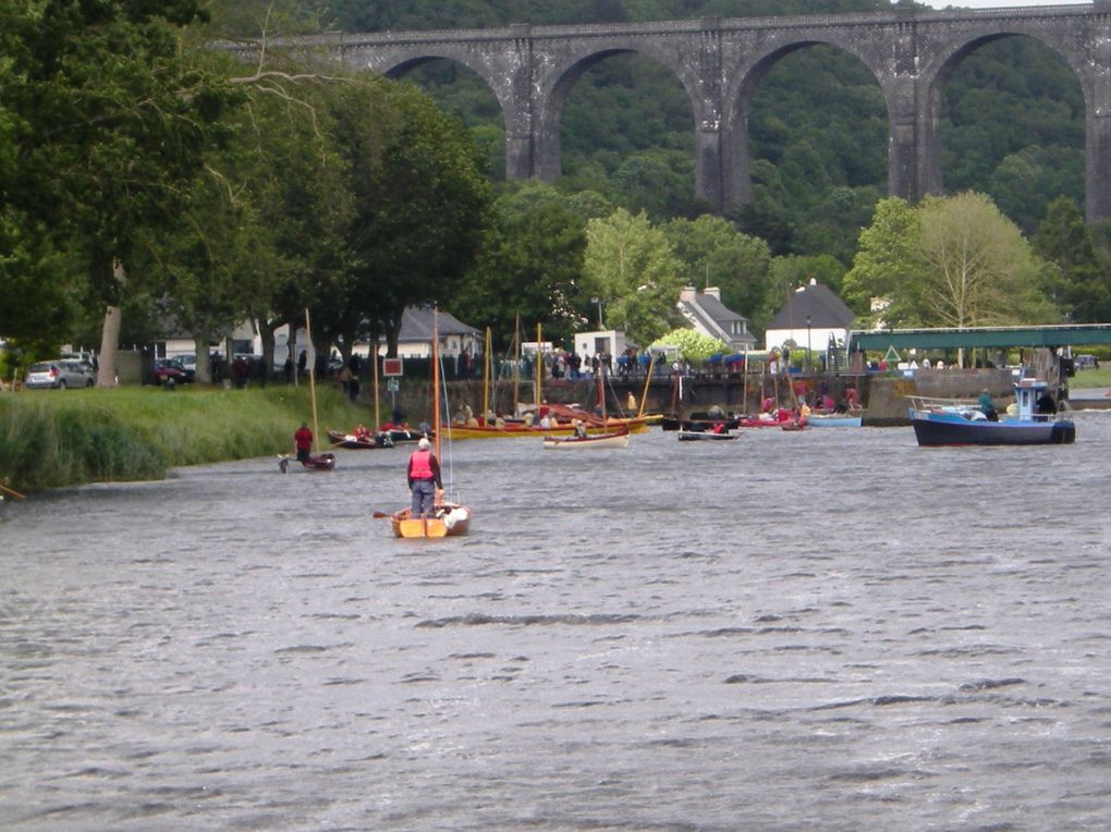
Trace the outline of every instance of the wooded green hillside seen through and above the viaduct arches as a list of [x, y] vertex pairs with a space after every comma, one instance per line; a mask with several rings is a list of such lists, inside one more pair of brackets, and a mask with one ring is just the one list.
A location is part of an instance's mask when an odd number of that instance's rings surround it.
[[[905, 4], [905, 3], [900, 3]], [[328, 0], [321, 21], [342, 31], [602, 23], [890, 10], [882, 0], [552, 0], [382, 2]], [[504, 177], [501, 112], [486, 84], [447, 61], [409, 76], [458, 113]], [[831, 47], [784, 57], [762, 81], [749, 122], [752, 202], [730, 219], [775, 254], [829, 253], [850, 265], [860, 228], [887, 194], [887, 111], [863, 64]], [[1048, 47], [1028, 38], [983, 44], [944, 89], [945, 190], [978, 190], [1028, 234], [1065, 196], [1083, 206], [1080, 86]], [[562, 121], [561, 190], [590, 190], [653, 220], [707, 210], [694, 196], [693, 124], [668, 70], [618, 56], [585, 73]]]

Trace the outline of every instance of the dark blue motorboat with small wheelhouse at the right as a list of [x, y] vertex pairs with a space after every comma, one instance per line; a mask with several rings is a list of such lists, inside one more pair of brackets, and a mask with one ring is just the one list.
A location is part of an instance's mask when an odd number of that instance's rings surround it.
[[[925, 447], [1071, 444], [1075, 441], [1077, 425], [1071, 420], [1058, 419], [1055, 412], [1048, 412], [1052, 399], [1044, 381], [1022, 379], [1014, 385], [1014, 395], [1015, 415], [998, 421], [989, 419], [972, 402], [909, 397], [914, 437]], [[1039, 402], [1043, 404], [1039, 407]]]

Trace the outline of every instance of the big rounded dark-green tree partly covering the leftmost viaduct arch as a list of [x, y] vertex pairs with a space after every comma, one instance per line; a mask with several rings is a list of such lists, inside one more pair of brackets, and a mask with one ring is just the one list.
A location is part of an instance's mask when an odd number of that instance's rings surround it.
[[[336, 298], [397, 349], [408, 305], [442, 302], [478, 257], [492, 198], [481, 153], [457, 119], [416, 87], [360, 78], [331, 109], [348, 172], [351, 263]], [[334, 315], [323, 320], [340, 320]], [[354, 335], [350, 315], [333, 337]]]

